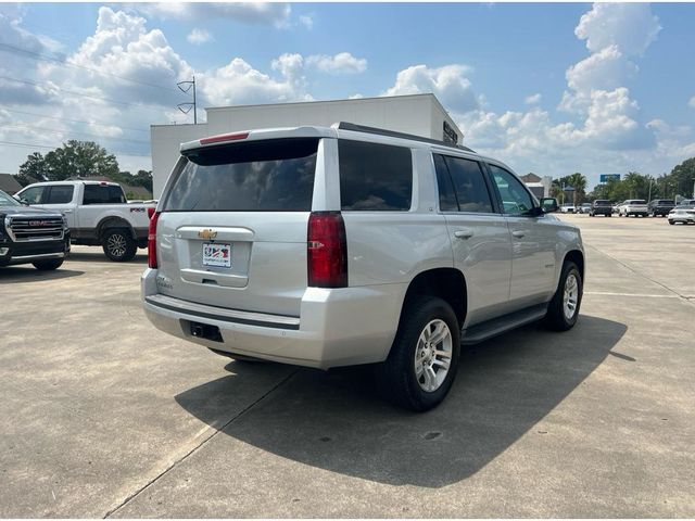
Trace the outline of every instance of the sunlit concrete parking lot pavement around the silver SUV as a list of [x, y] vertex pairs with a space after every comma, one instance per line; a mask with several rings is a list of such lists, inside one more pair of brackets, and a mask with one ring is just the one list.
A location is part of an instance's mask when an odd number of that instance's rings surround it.
[[142, 254], [0, 269], [0, 517], [694, 517], [695, 227], [561, 218], [578, 326], [466, 351], [425, 415], [160, 333]]

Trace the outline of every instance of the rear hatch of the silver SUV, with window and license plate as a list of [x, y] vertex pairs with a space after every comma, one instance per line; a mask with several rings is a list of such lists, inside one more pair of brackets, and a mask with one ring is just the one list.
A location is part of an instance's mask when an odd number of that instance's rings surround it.
[[319, 138], [184, 151], [157, 223], [160, 293], [299, 317]]

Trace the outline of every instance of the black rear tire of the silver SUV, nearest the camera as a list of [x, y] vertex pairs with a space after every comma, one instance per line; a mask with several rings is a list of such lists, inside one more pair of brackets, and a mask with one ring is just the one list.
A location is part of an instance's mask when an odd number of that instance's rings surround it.
[[[416, 350], [420, 335], [433, 321], [443, 321], [448, 328], [451, 352], [447, 353], [451, 353], [451, 358], [443, 381], [433, 391], [426, 391], [422, 387], [425, 383], [421, 384], [418, 381], [416, 372]], [[422, 352], [427, 350], [427, 346], [421, 344], [419, 346]], [[376, 366], [377, 385], [390, 402], [401, 407], [415, 411], [432, 409], [444, 399], [454, 383], [459, 353], [460, 329], [452, 306], [435, 296], [413, 297], [406, 302], [401, 314], [401, 322], [389, 357], [384, 363]], [[438, 367], [434, 374], [441, 370], [441, 366]], [[422, 379], [425, 379], [425, 372], [427, 371], [422, 371]]]

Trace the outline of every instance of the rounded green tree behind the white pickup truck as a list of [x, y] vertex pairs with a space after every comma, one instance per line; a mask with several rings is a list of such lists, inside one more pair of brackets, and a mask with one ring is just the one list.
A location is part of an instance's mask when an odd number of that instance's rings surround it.
[[59, 149], [42, 157], [33, 154], [20, 166], [20, 173], [34, 168], [35, 163], [42, 167], [43, 177], [49, 181], [61, 181], [70, 177], [103, 176], [110, 179], [118, 175], [116, 156], [93, 141], [70, 140]]

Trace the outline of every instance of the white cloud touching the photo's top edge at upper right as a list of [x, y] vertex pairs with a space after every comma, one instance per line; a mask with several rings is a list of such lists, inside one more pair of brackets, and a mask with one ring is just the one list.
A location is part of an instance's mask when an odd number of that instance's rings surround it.
[[642, 55], [661, 30], [648, 3], [594, 3], [574, 29], [586, 49], [618, 46], [627, 55]]

